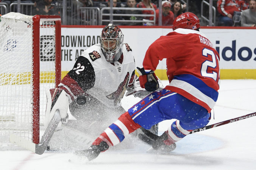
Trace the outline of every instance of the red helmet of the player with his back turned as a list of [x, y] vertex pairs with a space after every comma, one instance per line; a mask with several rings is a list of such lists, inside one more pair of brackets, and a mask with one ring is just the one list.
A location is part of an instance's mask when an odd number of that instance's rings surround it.
[[200, 28], [200, 21], [197, 15], [192, 12], [185, 12], [176, 17], [173, 21], [172, 30], [174, 31], [178, 28], [198, 30]]

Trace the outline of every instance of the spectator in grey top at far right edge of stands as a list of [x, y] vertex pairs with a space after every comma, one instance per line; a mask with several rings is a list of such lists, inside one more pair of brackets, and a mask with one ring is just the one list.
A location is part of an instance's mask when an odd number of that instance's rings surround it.
[[242, 26], [256, 26], [256, 0], [249, 1], [249, 9], [242, 11], [241, 15]]

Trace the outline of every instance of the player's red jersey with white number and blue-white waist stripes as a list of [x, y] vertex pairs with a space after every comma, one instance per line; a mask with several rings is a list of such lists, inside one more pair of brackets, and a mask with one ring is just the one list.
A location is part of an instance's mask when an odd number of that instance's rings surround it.
[[150, 45], [143, 61], [145, 71], [155, 70], [164, 58], [170, 82], [165, 89], [211, 112], [219, 94], [220, 71], [220, 57], [212, 43], [199, 31], [176, 29]]

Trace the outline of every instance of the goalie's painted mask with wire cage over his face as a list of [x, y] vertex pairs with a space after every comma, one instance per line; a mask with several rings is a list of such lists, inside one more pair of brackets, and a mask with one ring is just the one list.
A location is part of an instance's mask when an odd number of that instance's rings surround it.
[[120, 28], [109, 24], [103, 28], [100, 35], [103, 54], [109, 63], [114, 63], [122, 55], [123, 34]]

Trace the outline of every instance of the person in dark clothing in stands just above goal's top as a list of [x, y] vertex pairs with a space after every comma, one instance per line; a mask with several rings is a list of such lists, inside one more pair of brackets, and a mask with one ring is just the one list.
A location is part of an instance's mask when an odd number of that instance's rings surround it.
[[33, 15], [59, 15], [60, 11], [52, 5], [52, 0], [36, 0], [34, 3]]

